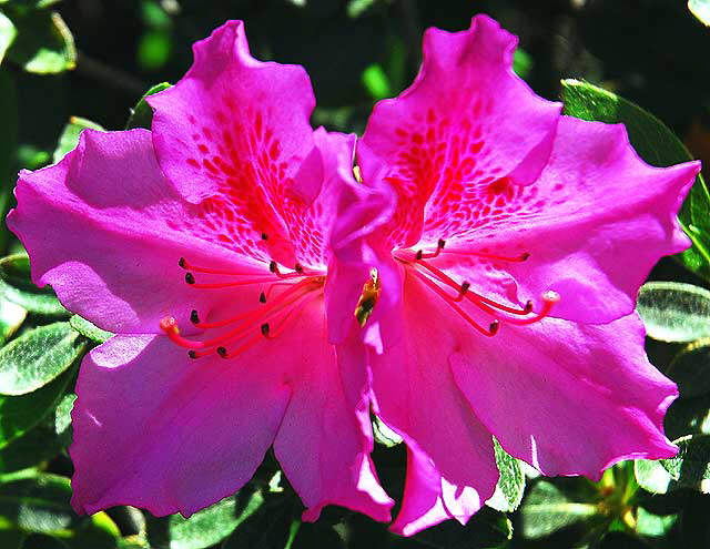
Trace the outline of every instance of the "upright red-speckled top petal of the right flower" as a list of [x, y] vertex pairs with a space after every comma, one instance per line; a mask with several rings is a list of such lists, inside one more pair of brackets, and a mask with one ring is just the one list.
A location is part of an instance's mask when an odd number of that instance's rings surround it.
[[560, 104], [515, 75], [515, 45], [486, 16], [463, 32], [429, 29], [414, 84], [375, 105], [358, 163], [366, 184], [384, 179], [399, 195], [387, 231], [395, 245], [465, 215], [466, 186], [506, 176], [529, 184], [547, 163]]

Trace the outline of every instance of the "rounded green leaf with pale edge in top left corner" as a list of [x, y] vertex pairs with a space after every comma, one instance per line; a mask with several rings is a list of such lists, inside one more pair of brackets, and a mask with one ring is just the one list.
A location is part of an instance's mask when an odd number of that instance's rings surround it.
[[57, 12], [30, 11], [13, 20], [18, 35], [7, 57], [28, 72], [57, 74], [77, 64], [74, 39]]

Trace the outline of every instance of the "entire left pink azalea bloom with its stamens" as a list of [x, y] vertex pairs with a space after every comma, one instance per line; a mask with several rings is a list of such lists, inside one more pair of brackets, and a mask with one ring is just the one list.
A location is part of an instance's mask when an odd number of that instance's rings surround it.
[[[34, 282], [118, 333], [79, 375], [72, 504], [190, 515], [273, 444], [305, 519], [336, 504], [388, 520], [363, 348], [327, 334], [332, 220], [367, 194], [354, 138], [312, 130], [305, 71], [254, 60], [241, 22], [194, 54], [150, 99], [152, 132], [84, 132], [22, 172], [8, 218]], [[353, 211], [355, 230], [387, 214], [376, 196]]]

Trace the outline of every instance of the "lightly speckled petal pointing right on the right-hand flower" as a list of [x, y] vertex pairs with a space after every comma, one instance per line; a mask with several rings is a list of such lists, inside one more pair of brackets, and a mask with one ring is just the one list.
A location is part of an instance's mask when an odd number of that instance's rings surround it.
[[[556, 291], [556, 317], [611, 322], [633, 311], [638, 288], [661, 256], [688, 247], [676, 214], [699, 170], [697, 162], [651, 167], [622, 125], [564, 116], [536, 183], [470, 190], [466, 227], [438, 236], [448, 238], [449, 252], [438, 264], [484, 293], [505, 286], [506, 298], [517, 303]], [[466, 257], [470, 253], [529, 258], [491, 262]]]

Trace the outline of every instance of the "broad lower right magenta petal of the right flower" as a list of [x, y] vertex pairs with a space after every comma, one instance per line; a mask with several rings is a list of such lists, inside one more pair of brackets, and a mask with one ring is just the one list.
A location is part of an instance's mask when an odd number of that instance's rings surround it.
[[501, 446], [545, 475], [599, 479], [622, 459], [659, 459], [676, 385], [648, 363], [636, 315], [604, 326], [545, 319], [462, 338], [458, 387]]

